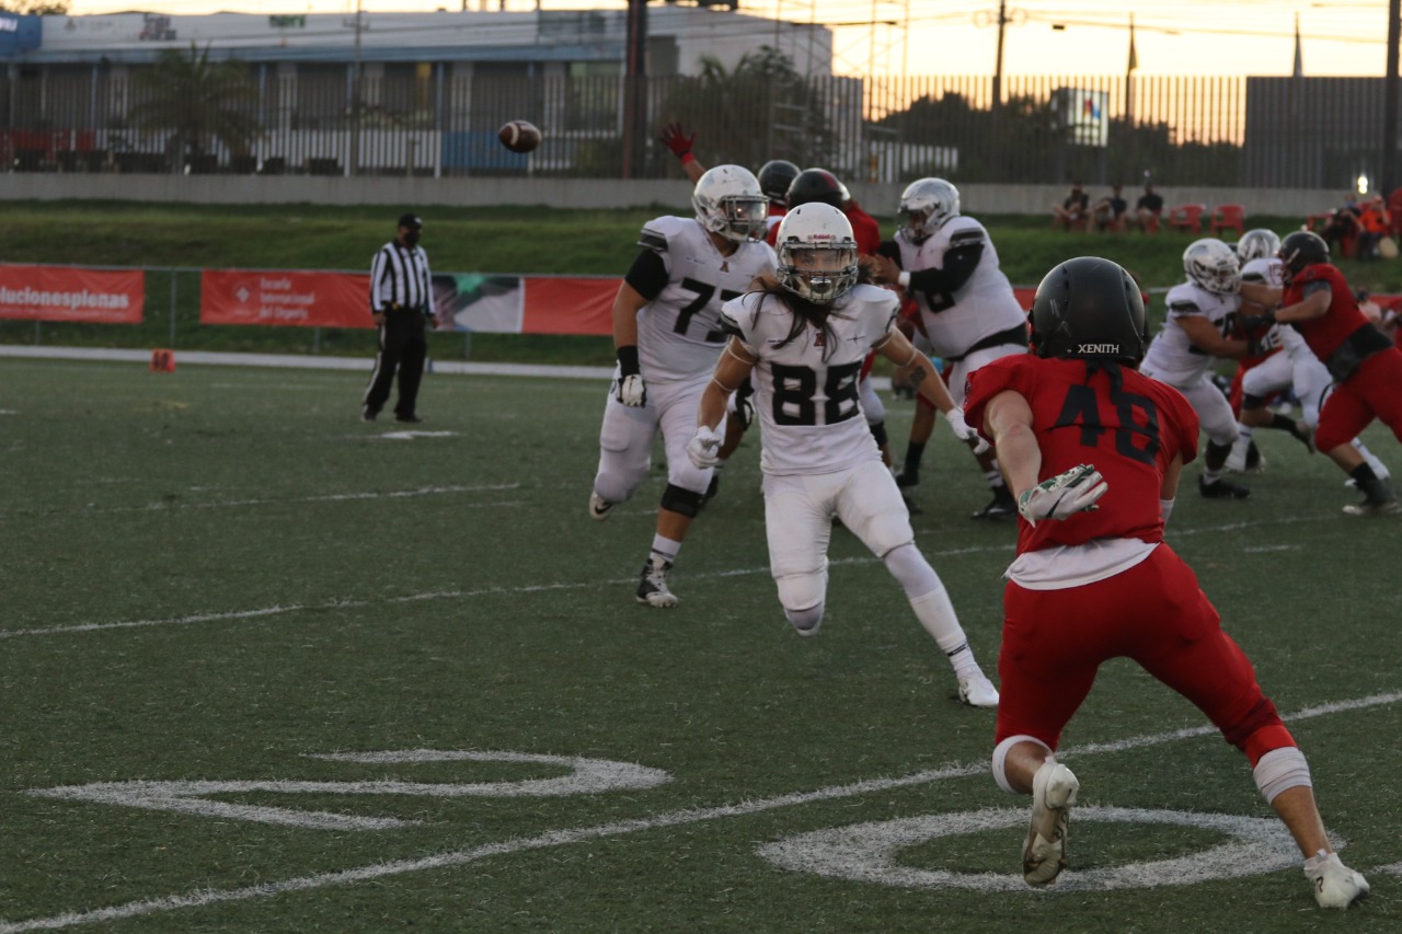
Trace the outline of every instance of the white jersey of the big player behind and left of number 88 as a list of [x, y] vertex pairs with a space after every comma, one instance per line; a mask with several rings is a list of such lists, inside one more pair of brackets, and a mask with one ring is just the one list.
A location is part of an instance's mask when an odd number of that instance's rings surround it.
[[774, 250], [743, 243], [722, 255], [694, 217], [658, 217], [638, 244], [662, 257], [667, 285], [638, 310], [638, 360], [648, 383], [708, 376], [725, 346], [721, 306], [743, 295], [760, 273], [774, 275]]

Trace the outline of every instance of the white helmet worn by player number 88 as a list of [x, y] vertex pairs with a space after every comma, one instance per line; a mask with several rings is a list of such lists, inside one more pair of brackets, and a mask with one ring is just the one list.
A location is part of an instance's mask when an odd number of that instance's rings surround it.
[[794, 208], [780, 222], [780, 285], [813, 304], [830, 304], [857, 285], [852, 223], [820, 201]]

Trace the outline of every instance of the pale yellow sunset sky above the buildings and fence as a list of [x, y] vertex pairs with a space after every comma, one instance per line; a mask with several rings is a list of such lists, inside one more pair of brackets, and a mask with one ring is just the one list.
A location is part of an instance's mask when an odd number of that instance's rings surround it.
[[[457, 11], [464, 0], [363, 0], [370, 13]], [[496, 10], [502, 0], [465, 0]], [[505, 0], [526, 13], [536, 0]], [[624, 10], [624, 0], [540, 0], [544, 10]], [[834, 70], [864, 73], [991, 74], [997, 3], [959, 0], [740, 0], [742, 11], [833, 27]], [[236, 11], [346, 13], [355, 0], [72, 0], [74, 15], [144, 10], [170, 14]], [[1123, 74], [1129, 20], [1140, 74], [1290, 74], [1300, 17], [1304, 73], [1382, 76], [1387, 0], [1008, 0], [1007, 74]], [[872, 21], [878, 21], [875, 31]], [[1054, 25], [1063, 29], [1054, 29]]]

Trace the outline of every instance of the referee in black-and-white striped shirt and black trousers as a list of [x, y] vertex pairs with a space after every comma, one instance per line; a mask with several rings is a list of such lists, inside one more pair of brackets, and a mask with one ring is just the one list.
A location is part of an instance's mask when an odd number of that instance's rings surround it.
[[414, 213], [400, 217], [394, 240], [380, 247], [370, 261], [370, 314], [380, 328], [374, 373], [365, 390], [362, 422], [373, 422], [390, 400], [394, 374], [400, 374], [400, 401], [394, 421], [422, 422], [414, 411], [428, 358], [428, 324], [433, 320], [433, 282], [429, 254], [419, 245], [423, 222]]

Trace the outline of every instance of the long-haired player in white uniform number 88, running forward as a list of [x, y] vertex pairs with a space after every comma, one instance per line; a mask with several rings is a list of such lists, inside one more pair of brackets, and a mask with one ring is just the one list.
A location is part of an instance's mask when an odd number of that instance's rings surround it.
[[701, 395], [687, 453], [700, 468], [715, 461], [726, 397], [753, 373], [770, 571], [789, 623], [801, 635], [817, 632], [827, 544], [833, 519], [841, 519], [886, 564], [949, 656], [960, 700], [995, 707], [998, 693], [979, 669], [939, 575], [916, 547], [900, 491], [862, 418], [862, 360], [876, 351], [899, 366], [916, 365], [920, 393], [960, 438], [972, 432], [934, 367], [894, 328], [896, 296], [858, 285], [859, 275], [841, 210], [820, 202], [789, 210], [780, 224], [778, 285], [722, 309], [733, 337]]

